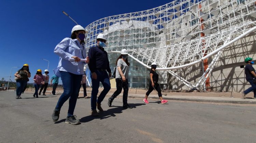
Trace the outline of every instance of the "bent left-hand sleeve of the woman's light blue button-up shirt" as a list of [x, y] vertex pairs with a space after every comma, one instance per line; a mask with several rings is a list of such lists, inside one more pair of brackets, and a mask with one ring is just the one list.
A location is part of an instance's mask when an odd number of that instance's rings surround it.
[[65, 52], [65, 50], [68, 48], [70, 43], [70, 38], [64, 38], [54, 49], [54, 53], [59, 55], [59, 57], [69, 60], [69, 58], [72, 58], [73, 55]]

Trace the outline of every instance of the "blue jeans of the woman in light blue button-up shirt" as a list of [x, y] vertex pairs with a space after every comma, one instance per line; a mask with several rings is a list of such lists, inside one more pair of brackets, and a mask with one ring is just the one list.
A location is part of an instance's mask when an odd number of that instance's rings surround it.
[[60, 77], [63, 84], [63, 93], [59, 97], [56, 111], [60, 111], [62, 105], [69, 99], [68, 116], [72, 116], [75, 110], [77, 94], [79, 94], [80, 83], [83, 75], [76, 75], [69, 72], [60, 71]]

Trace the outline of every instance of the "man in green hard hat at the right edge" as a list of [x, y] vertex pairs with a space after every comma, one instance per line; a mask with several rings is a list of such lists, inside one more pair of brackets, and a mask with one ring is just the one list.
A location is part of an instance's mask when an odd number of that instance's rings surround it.
[[252, 87], [248, 88], [247, 90], [240, 92], [245, 99], [245, 95], [253, 91], [254, 93], [254, 98], [256, 98], [256, 83], [255, 83], [255, 78], [256, 78], [256, 73], [255, 69], [253, 68], [252, 64], [254, 62], [252, 61], [253, 58], [246, 58], [244, 61], [247, 63], [245, 68], [244, 68], [244, 73], [245, 73], [245, 79], [250, 82]]

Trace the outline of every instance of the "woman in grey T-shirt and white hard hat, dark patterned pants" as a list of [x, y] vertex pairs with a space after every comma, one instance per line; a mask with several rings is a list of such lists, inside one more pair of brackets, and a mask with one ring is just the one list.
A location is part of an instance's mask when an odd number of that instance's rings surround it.
[[122, 89], [124, 89], [123, 93], [123, 108], [132, 108], [127, 104], [127, 97], [128, 97], [128, 73], [129, 73], [129, 66], [130, 63], [127, 60], [128, 58], [128, 52], [126, 49], [123, 49], [121, 51], [121, 55], [116, 60], [116, 91], [114, 94], [109, 98], [108, 105], [109, 107], [112, 106], [113, 100], [122, 92]]

